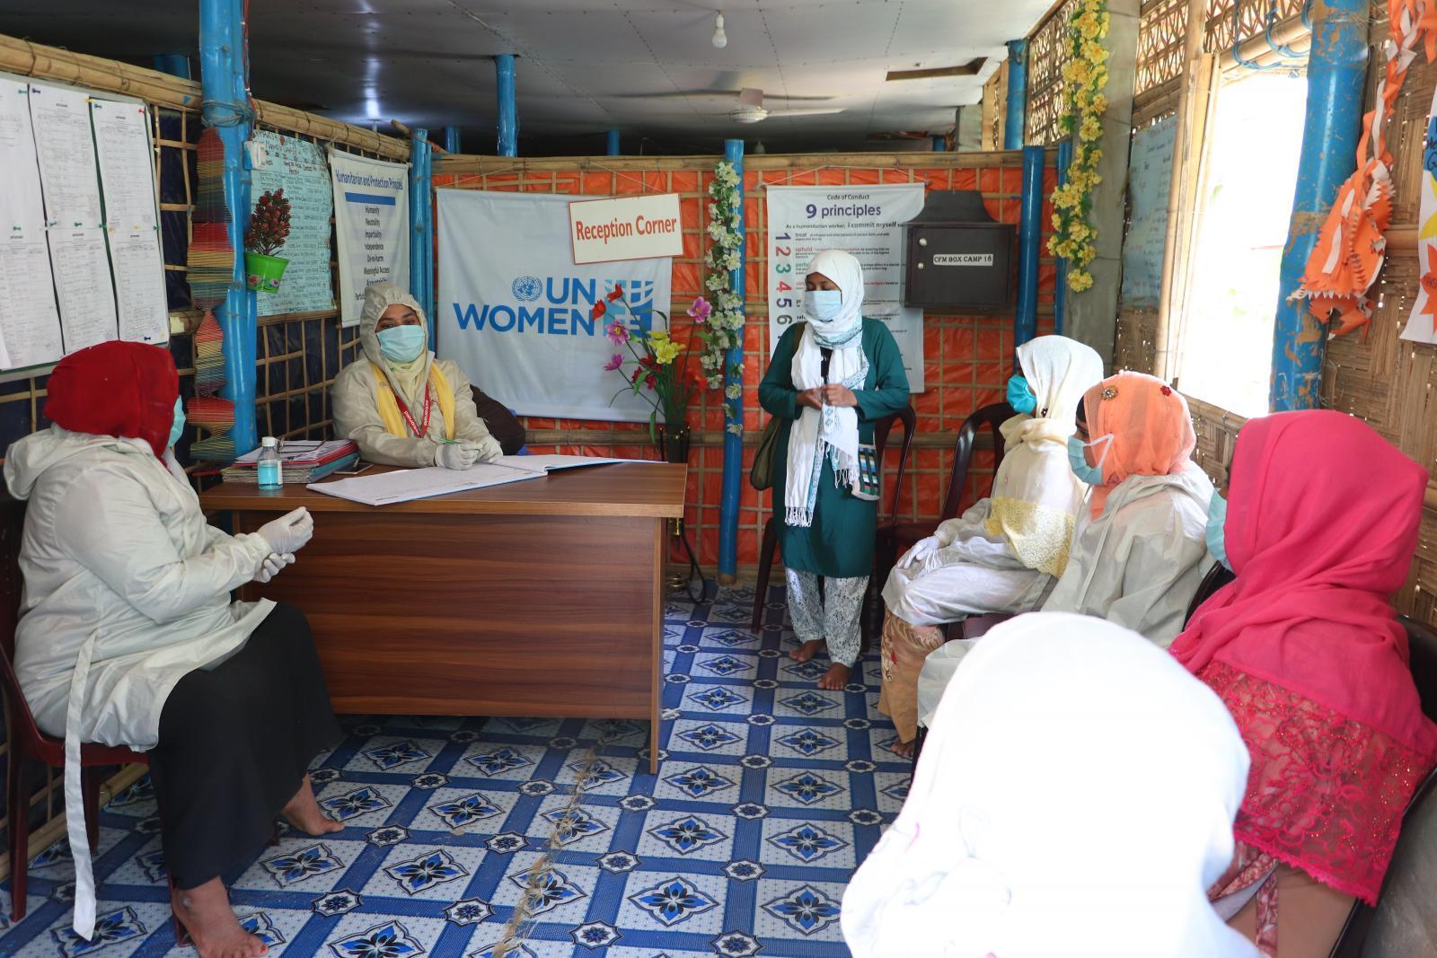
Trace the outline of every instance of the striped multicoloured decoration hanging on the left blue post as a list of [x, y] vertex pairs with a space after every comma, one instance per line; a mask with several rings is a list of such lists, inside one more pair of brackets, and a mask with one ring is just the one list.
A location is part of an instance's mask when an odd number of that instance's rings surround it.
[[234, 404], [221, 399], [224, 385], [224, 333], [214, 319], [214, 307], [224, 302], [234, 282], [234, 247], [230, 244], [230, 208], [224, 200], [224, 145], [214, 128], [205, 129], [195, 145], [200, 192], [194, 207], [194, 234], [187, 257], [190, 300], [204, 312], [194, 335], [195, 398], [187, 418], [205, 429], [207, 437], [190, 445], [197, 460], [228, 462], [234, 460]]

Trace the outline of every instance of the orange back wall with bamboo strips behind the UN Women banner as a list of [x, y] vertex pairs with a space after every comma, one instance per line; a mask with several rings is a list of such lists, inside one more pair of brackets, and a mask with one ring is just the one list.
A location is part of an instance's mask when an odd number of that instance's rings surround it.
[[[687, 338], [684, 310], [703, 290], [707, 256], [707, 188], [717, 158], [622, 158], [605, 157], [513, 161], [494, 157], [456, 157], [435, 162], [435, 187], [504, 190], [588, 195], [621, 195], [673, 191], [680, 194], [684, 227], [684, 256], [674, 260], [673, 322], [680, 339]], [[924, 182], [931, 190], [980, 190], [989, 213], [1016, 223], [1020, 191], [1020, 154], [864, 154], [858, 157], [750, 157], [746, 158], [744, 223], [747, 227], [747, 289], [744, 329], [744, 475], [752, 462], [767, 414], [759, 406], [757, 383], [767, 368], [767, 233], [764, 194], [760, 185], [867, 185], [881, 182]], [[1052, 168], [1046, 190], [1055, 185]], [[1045, 211], [1043, 223], [1049, 213]], [[443, 284], [443, 277], [440, 277]], [[1052, 330], [1053, 266], [1040, 269], [1039, 332]], [[1012, 372], [1013, 315], [1006, 310], [986, 316], [925, 317], [925, 379], [928, 389], [912, 398], [918, 417], [918, 448], [910, 462], [900, 514], [933, 518], [947, 488], [951, 445], [957, 428], [976, 408], [1002, 398]], [[479, 383], [483, 388], [483, 383]], [[502, 398], [502, 396], [500, 396]], [[527, 419], [536, 451], [558, 450], [595, 455], [657, 458], [645, 427], [622, 422], [578, 419]], [[707, 572], [718, 554], [718, 493], [723, 470], [723, 408], [717, 392], [707, 392], [693, 415], [694, 445], [690, 454], [685, 524]], [[980, 460], [979, 477], [970, 488], [986, 488], [992, 457]], [[890, 455], [890, 475], [897, 454]], [[739, 514], [739, 566], [757, 562], [763, 523], [769, 517], [769, 496], [743, 483]], [[674, 559], [678, 559], [677, 553]]]

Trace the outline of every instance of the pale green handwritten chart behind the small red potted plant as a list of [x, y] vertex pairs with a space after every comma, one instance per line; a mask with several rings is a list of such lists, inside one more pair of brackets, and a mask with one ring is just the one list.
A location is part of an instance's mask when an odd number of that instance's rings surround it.
[[289, 260], [279, 292], [259, 299], [260, 316], [309, 313], [335, 307], [329, 276], [329, 220], [335, 211], [333, 187], [325, 151], [305, 139], [262, 129], [254, 141], [267, 155], [250, 174], [250, 200], [283, 190], [289, 200], [289, 238], [276, 256]]

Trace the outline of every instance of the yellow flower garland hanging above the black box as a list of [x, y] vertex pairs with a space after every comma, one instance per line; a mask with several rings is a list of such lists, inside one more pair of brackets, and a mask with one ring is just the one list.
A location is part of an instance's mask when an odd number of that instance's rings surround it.
[[1102, 182], [1098, 161], [1102, 159], [1102, 115], [1108, 98], [1108, 50], [1102, 39], [1108, 36], [1106, 0], [1076, 0], [1076, 10], [1068, 20], [1068, 49], [1071, 59], [1063, 66], [1063, 99], [1066, 109], [1061, 121], [1065, 135], [1076, 134], [1073, 158], [1068, 167], [1068, 182], [1053, 191], [1053, 236], [1048, 251], [1068, 260], [1068, 289], [1081, 293], [1092, 287], [1088, 264], [1098, 256], [1098, 230], [1088, 221], [1092, 211], [1092, 188]]

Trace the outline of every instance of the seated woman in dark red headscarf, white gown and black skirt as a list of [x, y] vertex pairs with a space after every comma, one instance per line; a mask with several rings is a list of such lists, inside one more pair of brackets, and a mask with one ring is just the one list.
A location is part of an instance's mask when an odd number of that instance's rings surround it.
[[305, 616], [230, 590], [269, 582], [313, 523], [296, 510], [227, 536], [204, 521], [174, 458], [184, 414], [165, 349], [92, 346], [47, 389], [55, 425], [10, 447], [4, 477], [27, 500], [16, 674], [40, 728], [66, 743], [75, 931], [95, 926], [80, 743], [129, 745], [149, 753], [175, 916], [203, 958], [262, 955], [220, 875], [279, 814], [312, 834], [341, 827], [306, 774], [341, 730]]

